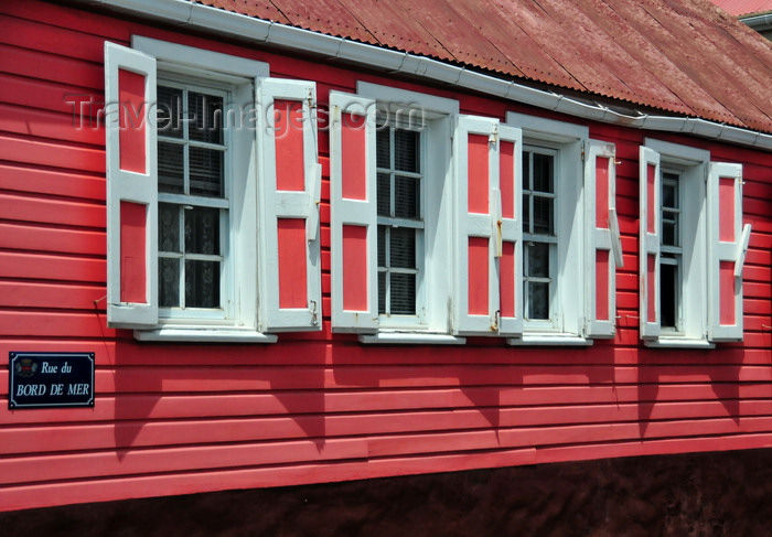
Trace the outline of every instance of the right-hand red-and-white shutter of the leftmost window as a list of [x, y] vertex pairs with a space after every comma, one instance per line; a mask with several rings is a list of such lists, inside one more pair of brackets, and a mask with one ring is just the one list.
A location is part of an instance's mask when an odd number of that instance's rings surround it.
[[260, 327], [321, 330], [315, 85], [259, 79]]

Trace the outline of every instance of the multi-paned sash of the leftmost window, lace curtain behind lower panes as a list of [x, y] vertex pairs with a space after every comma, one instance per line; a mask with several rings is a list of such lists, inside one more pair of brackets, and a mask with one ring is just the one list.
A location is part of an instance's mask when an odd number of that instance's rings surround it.
[[[228, 316], [228, 93], [158, 86], [158, 241], [161, 316]], [[192, 121], [183, 121], [191, 118]]]

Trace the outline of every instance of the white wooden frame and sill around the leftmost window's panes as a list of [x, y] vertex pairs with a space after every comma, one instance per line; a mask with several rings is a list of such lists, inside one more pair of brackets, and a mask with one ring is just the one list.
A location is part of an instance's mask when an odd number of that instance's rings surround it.
[[[255, 87], [259, 78], [269, 75], [268, 64], [230, 56], [212, 51], [194, 49], [176, 43], [158, 41], [135, 35], [131, 40], [135, 51], [156, 58], [161, 84], [167, 77], [184, 80], [201, 80], [197, 85], [225, 87], [230, 103], [238, 114], [254, 107]], [[183, 82], [184, 84], [184, 82]], [[154, 122], [150, 121], [154, 128]], [[256, 129], [246, 122], [238, 129], [227, 129], [228, 150], [226, 170], [226, 192], [229, 191], [228, 241], [223, 246], [227, 261], [223, 269], [224, 288], [230, 288], [228, 296], [222, 296], [225, 318], [207, 319], [190, 314], [159, 316], [158, 325], [150, 330], [135, 330], [135, 337], [141, 341], [187, 341], [187, 342], [256, 342], [272, 343], [277, 336], [258, 331], [257, 291], [257, 183]], [[156, 148], [151, 148], [156, 158]], [[238, 193], [238, 195], [234, 195]], [[158, 269], [157, 267], [154, 268]], [[238, 286], [235, 284], [238, 282]], [[163, 313], [163, 309], [161, 309]]]

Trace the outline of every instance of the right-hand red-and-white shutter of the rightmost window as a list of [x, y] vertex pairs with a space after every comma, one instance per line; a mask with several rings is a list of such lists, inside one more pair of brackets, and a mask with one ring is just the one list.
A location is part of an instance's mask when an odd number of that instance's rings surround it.
[[708, 174], [708, 339], [742, 340], [742, 164], [710, 163]]

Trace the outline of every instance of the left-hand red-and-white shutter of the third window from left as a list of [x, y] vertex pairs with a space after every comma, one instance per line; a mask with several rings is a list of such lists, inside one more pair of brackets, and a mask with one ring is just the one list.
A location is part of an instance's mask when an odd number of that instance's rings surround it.
[[[498, 334], [523, 335], [523, 132], [498, 125]], [[494, 200], [496, 201], [496, 200]]]

